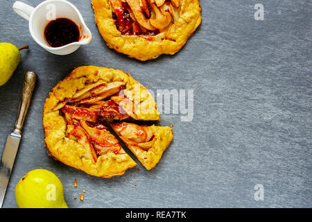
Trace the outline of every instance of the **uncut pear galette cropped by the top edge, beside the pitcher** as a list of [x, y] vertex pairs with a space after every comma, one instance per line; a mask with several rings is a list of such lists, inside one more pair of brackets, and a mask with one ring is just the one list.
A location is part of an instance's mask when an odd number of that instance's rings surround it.
[[92, 6], [107, 46], [143, 61], [179, 51], [202, 19], [199, 0], [92, 0]]

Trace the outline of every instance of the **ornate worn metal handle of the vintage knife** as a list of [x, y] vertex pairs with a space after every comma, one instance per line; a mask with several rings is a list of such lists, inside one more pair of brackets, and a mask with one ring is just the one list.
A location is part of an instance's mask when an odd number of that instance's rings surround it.
[[17, 112], [15, 129], [13, 130], [15, 133], [21, 133], [21, 128], [23, 128], [28, 107], [31, 103], [31, 96], [33, 95], [33, 89], [35, 89], [36, 81], [37, 74], [35, 74], [33, 71], [28, 71], [25, 74], [24, 86], [21, 92], [21, 100], [19, 101], [19, 112]]

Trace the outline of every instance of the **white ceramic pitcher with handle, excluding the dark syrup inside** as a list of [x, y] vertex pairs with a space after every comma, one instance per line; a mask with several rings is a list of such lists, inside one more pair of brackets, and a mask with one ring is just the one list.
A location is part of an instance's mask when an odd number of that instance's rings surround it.
[[[31, 36], [42, 48], [56, 55], [67, 55], [76, 51], [81, 45], [89, 44], [92, 40], [92, 33], [85, 25], [82, 15], [72, 3], [65, 0], [43, 1], [36, 8], [28, 6], [21, 1], [15, 1], [13, 10], [18, 15], [29, 21]], [[53, 18], [52, 18], [53, 17]], [[53, 48], [44, 39], [44, 28], [51, 19], [67, 18], [75, 22], [80, 29], [80, 40], [70, 44]]]

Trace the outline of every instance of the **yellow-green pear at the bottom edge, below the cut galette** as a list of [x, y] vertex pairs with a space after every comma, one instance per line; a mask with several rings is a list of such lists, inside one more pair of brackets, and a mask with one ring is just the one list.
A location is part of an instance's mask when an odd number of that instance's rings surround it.
[[63, 186], [51, 171], [29, 171], [15, 187], [15, 200], [20, 208], [68, 208]]

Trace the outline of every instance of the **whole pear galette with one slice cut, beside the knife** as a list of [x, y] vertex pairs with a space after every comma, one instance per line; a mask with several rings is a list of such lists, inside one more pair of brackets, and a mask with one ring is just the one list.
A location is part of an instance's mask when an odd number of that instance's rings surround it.
[[[56, 160], [110, 178], [136, 163], [105, 123], [134, 120], [159, 120], [157, 104], [146, 87], [121, 70], [78, 67], [52, 89], [44, 103], [44, 141]], [[171, 128], [131, 124], [121, 129], [116, 124], [117, 135], [121, 133], [146, 169], [155, 167], [173, 137]], [[129, 146], [125, 139], [133, 144]]]

